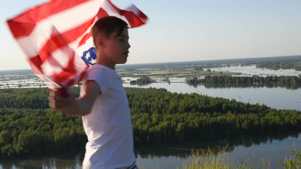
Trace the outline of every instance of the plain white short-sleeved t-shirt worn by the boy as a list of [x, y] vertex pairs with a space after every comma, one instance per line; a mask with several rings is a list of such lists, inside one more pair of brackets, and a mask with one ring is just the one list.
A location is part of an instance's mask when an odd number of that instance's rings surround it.
[[135, 161], [130, 108], [121, 77], [114, 69], [103, 65], [90, 67], [83, 81], [95, 80], [99, 94], [89, 115], [83, 116], [88, 137], [83, 168], [118, 168]]

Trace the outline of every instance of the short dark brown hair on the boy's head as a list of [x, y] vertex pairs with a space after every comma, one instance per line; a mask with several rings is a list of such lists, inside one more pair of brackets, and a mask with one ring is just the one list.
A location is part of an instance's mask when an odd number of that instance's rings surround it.
[[115, 32], [117, 32], [117, 36], [119, 36], [124, 28], [128, 28], [127, 22], [115, 16], [105, 16], [98, 19], [92, 27], [93, 41], [95, 41], [99, 33], [105, 36], [105, 38], [110, 37]]

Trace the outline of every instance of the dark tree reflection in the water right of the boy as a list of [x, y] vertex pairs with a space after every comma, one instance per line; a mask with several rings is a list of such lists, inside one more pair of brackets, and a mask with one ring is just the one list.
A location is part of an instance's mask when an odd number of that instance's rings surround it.
[[[257, 133], [257, 134], [244, 134], [239, 136], [230, 136], [223, 139], [208, 140], [207, 142], [198, 143], [181, 143], [181, 144], [166, 144], [156, 147], [139, 147], [136, 148], [135, 154], [140, 155], [142, 158], [161, 158], [161, 157], [179, 157], [187, 158], [191, 155], [191, 151], [203, 150], [205, 153], [210, 149], [211, 152], [217, 154], [220, 150], [225, 152], [233, 152], [235, 147], [243, 146], [245, 148], [270, 143], [273, 141], [284, 141], [289, 138], [298, 138], [299, 131], [288, 131], [279, 133]], [[288, 149], [291, 149], [290, 143]]]

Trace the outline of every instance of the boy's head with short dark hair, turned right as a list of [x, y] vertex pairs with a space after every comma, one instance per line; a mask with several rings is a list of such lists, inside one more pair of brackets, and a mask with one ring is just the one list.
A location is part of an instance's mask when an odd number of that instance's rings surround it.
[[97, 51], [97, 61], [110, 64], [127, 62], [129, 53], [128, 24], [114, 16], [106, 16], [92, 27], [93, 42]]

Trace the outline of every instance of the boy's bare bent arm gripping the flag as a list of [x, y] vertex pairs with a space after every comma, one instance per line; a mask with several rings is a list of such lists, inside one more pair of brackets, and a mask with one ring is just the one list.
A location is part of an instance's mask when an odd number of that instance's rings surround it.
[[94, 80], [86, 81], [85, 95], [79, 98], [64, 98], [58, 91], [49, 92], [49, 107], [61, 111], [65, 115], [85, 116], [91, 111], [91, 108], [100, 94], [97, 82]]

